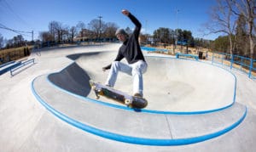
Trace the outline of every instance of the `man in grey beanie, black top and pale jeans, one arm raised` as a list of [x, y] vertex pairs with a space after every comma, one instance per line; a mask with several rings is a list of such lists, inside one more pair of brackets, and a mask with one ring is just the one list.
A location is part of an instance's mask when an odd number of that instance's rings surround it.
[[[138, 42], [142, 25], [128, 10], [122, 10], [122, 14], [127, 16], [133, 22], [135, 29], [131, 36], [129, 36], [124, 29], [116, 31], [116, 37], [119, 41], [123, 42], [123, 44], [119, 48], [119, 52], [113, 63], [102, 68], [103, 71], [110, 69], [105, 84], [113, 87], [118, 72], [125, 72], [128, 75], [133, 76], [133, 95], [143, 97], [143, 73], [146, 72], [148, 65]], [[120, 62], [120, 60], [124, 58], [127, 60], [128, 64]]]

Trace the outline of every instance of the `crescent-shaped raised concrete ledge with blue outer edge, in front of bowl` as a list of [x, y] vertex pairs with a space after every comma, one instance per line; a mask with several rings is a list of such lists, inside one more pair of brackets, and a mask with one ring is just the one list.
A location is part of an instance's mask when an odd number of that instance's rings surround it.
[[38, 76], [32, 82], [32, 90], [38, 101], [62, 121], [102, 138], [130, 144], [194, 144], [229, 132], [247, 115], [241, 104], [201, 115], [124, 110], [69, 94], [55, 87], [47, 76]]

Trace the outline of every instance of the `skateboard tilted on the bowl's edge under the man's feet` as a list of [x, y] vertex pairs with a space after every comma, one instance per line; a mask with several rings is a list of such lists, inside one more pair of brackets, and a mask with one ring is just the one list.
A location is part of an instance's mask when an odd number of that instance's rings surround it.
[[100, 96], [107, 97], [108, 99], [113, 99], [121, 104], [125, 104], [131, 108], [142, 109], [148, 105], [148, 101], [141, 97], [131, 96], [127, 93], [123, 93], [113, 87], [108, 87], [101, 84], [100, 82], [94, 82], [90, 80], [90, 87], [96, 93], [96, 99], [100, 99]]

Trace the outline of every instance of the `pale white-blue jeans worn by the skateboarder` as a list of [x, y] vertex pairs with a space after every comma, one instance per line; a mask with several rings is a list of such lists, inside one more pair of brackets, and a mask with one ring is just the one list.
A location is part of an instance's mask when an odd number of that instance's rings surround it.
[[114, 61], [108, 74], [106, 85], [113, 87], [119, 71], [124, 72], [133, 77], [133, 93], [143, 95], [143, 73], [147, 71], [148, 65], [143, 60], [139, 60], [134, 64], [127, 65], [125, 63]]

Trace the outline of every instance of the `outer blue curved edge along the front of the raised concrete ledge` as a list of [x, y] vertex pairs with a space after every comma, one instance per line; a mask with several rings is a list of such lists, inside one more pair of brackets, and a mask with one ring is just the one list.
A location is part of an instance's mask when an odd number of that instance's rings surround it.
[[55, 110], [53, 107], [49, 106], [46, 102], [44, 102], [43, 99], [40, 98], [38, 93], [34, 89], [34, 81], [36, 78], [32, 81], [31, 87], [32, 87], [32, 93], [35, 95], [36, 99], [44, 105], [44, 107], [49, 110], [52, 114], [60, 118], [62, 121], [66, 121], [68, 124], [73, 125], [74, 127], [78, 127], [81, 130], [84, 130], [85, 132], [90, 132], [92, 134], [95, 134], [97, 136], [100, 136], [102, 138], [109, 138], [113, 139], [119, 142], [125, 142], [130, 144], [143, 144], [143, 145], [154, 145], [154, 146], [172, 146], [172, 145], [184, 145], [184, 144], [195, 144], [199, 143], [211, 138], [216, 138], [226, 132], [229, 132], [230, 130], [237, 127], [241, 121], [243, 121], [247, 115], [247, 107], [245, 107], [245, 112], [241, 116], [241, 118], [236, 121], [234, 124], [230, 125], [230, 127], [226, 127], [223, 130], [220, 130], [218, 132], [212, 132], [206, 135], [194, 137], [194, 138], [137, 138], [137, 137], [131, 137], [131, 136], [125, 136], [113, 132], [107, 132], [102, 129], [98, 129], [96, 127], [90, 127], [89, 125], [86, 125], [84, 123], [81, 123], [79, 121], [76, 121], [67, 115], [62, 114], [58, 110]]

